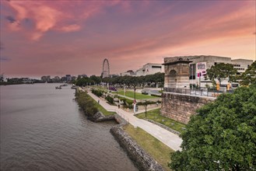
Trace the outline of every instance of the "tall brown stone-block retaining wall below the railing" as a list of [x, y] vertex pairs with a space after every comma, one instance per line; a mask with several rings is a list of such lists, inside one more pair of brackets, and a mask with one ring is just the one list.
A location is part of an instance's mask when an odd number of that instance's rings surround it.
[[161, 114], [164, 117], [170, 117], [181, 123], [188, 124], [191, 115], [195, 114], [199, 107], [214, 101], [214, 99], [211, 97], [163, 92]]

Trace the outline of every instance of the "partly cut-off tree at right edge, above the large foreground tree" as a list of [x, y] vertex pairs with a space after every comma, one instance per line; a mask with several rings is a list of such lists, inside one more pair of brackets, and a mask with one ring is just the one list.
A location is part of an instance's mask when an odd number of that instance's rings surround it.
[[248, 86], [250, 84], [256, 84], [256, 61], [252, 63], [247, 70], [240, 76], [240, 84]]

